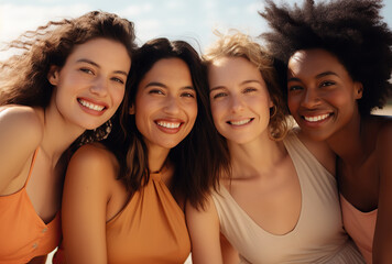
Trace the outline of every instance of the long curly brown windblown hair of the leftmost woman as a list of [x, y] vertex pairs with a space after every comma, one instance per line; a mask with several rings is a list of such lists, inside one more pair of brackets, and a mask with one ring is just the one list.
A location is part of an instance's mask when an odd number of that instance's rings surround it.
[[[102, 11], [50, 21], [10, 42], [7, 48], [19, 53], [0, 63], [0, 106], [13, 103], [46, 108], [54, 88], [47, 79], [51, 66], [62, 68], [76, 45], [96, 37], [123, 44], [130, 57], [137, 50], [133, 23]], [[124, 111], [123, 106], [119, 109]], [[77, 141], [106, 134], [106, 129], [107, 124], [102, 124], [96, 131], [88, 130]]]

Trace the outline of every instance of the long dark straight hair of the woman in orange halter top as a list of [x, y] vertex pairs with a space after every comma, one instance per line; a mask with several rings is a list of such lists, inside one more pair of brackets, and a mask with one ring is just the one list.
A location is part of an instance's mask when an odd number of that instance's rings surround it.
[[[206, 194], [217, 183], [220, 146], [208, 111], [207, 81], [197, 52], [184, 41], [161, 37], [146, 42], [133, 57], [131, 89], [129, 100], [124, 103], [129, 109], [135, 102], [139, 84], [156, 62], [165, 58], [179, 58], [186, 63], [197, 95], [195, 124], [190, 133], [170, 151], [167, 157], [175, 169], [172, 179], [173, 195], [184, 197], [195, 207], [203, 207]], [[113, 125], [113, 133], [104, 143], [116, 154], [121, 167], [119, 179], [132, 195], [149, 182], [149, 153], [135, 124], [134, 114], [127, 114], [119, 122], [123, 123], [127, 134]]]

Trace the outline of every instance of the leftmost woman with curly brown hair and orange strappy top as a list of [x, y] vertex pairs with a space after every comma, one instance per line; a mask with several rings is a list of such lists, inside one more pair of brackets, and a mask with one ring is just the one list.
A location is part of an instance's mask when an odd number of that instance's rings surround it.
[[0, 65], [0, 263], [44, 263], [61, 240], [64, 153], [78, 136], [110, 132], [133, 23], [94, 11], [48, 22], [10, 48], [21, 53]]

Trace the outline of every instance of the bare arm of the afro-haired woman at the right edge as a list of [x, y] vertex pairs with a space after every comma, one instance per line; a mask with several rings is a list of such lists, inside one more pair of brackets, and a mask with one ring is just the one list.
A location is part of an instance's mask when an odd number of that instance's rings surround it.
[[380, 132], [377, 154], [380, 164], [380, 187], [373, 264], [391, 263], [392, 260], [392, 123]]

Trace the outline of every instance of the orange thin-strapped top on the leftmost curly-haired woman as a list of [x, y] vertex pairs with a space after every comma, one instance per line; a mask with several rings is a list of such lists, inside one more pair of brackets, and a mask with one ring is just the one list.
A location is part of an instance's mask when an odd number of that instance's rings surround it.
[[59, 213], [45, 224], [26, 193], [37, 152], [23, 188], [12, 195], [0, 196], [0, 264], [28, 263], [35, 256], [48, 254], [59, 243]]

